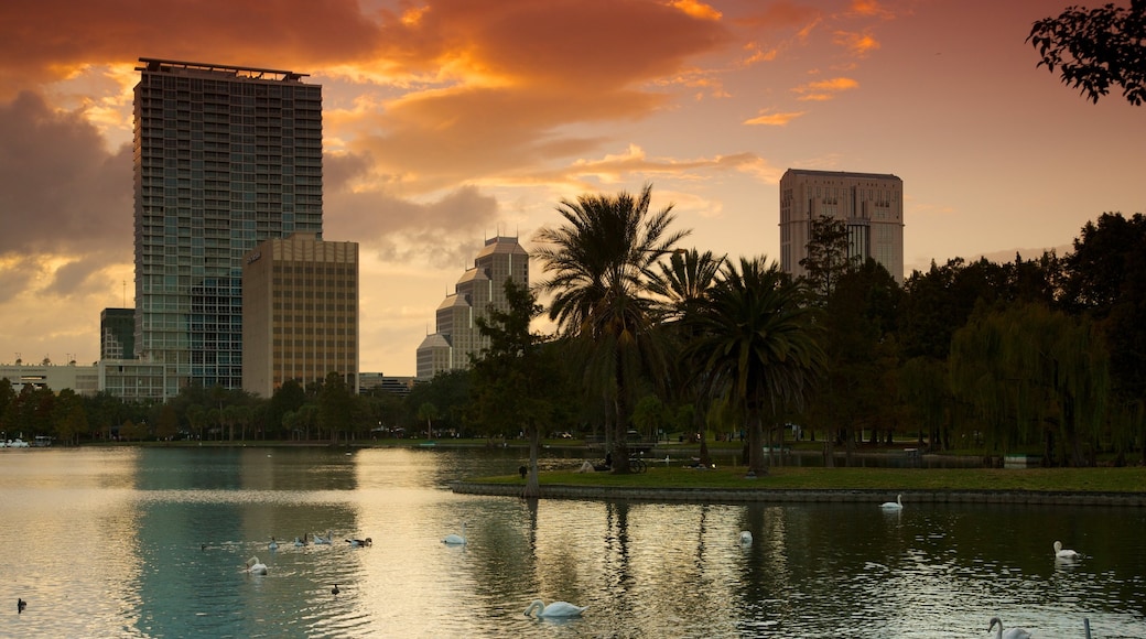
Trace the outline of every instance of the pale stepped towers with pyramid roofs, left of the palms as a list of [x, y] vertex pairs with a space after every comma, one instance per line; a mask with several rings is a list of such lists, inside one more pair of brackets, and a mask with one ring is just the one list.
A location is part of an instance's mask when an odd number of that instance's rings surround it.
[[466, 269], [454, 293], [438, 305], [435, 332], [426, 336], [417, 350], [417, 377], [430, 379], [442, 371], [470, 368], [470, 355], [489, 347], [474, 320], [487, 317], [490, 306], [508, 310], [505, 281], [529, 285], [529, 254], [516, 237], [494, 237]]

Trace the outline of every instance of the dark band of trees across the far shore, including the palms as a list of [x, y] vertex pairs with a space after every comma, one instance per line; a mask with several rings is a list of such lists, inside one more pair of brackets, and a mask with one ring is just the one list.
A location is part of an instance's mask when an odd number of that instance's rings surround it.
[[[534, 255], [551, 277], [536, 291], [508, 285], [512, 308], [481, 326], [492, 338], [486, 357], [406, 396], [354, 394], [337, 373], [321, 384], [289, 381], [269, 399], [188, 387], [164, 403], [30, 386], [16, 394], [0, 380], [0, 431], [49, 435], [57, 445], [398, 436], [535, 443], [572, 433], [613, 440], [622, 451], [636, 431], [643, 440], [698, 439], [706, 456], [707, 442], [752, 441], [759, 428], [763, 442], [798, 436], [826, 453], [894, 441], [936, 452], [1036, 453], [1051, 465], [1146, 462], [1143, 214], [1102, 214], [1066, 255], [953, 259], [912, 273], [902, 286], [874, 261], [848, 261], [846, 229], [830, 219], [813, 222], [800, 282], [766, 258], [675, 247], [688, 232], [645, 237], [650, 243], [618, 249], [634, 267], [614, 283], [627, 297], [592, 298], [602, 269], [581, 268], [592, 257], [575, 249], [594, 242], [586, 224], [594, 207], [617, 202], [634, 206], [623, 198], [563, 203], [570, 227], [547, 229], [541, 239], [550, 249]], [[636, 220], [647, 220], [643, 206], [646, 197], [635, 204]], [[672, 222], [667, 211], [656, 219], [660, 230]], [[563, 235], [568, 229], [576, 232]], [[539, 293], [554, 295], [549, 308]], [[617, 313], [602, 315], [607, 305]], [[532, 332], [547, 313], [558, 330]], [[776, 345], [753, 340], [777, 331], [790, 332], [779, 342], [787, 360], [768, 364], [776, 354], [762, 353]], [[778, 368], [801, 348], [795, 369]], [[736, 349], [749, 355], [728, 356]], [[754, 357], [762, 368], [745, 364]]]

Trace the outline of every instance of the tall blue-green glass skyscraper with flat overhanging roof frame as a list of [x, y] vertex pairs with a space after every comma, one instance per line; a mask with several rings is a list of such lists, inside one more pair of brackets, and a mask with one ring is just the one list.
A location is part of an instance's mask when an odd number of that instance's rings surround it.
[[243, 384], [242, 259], [322, 237], [322, 87], [304, 73], [140, 58], [135, 353], [188, 384]]

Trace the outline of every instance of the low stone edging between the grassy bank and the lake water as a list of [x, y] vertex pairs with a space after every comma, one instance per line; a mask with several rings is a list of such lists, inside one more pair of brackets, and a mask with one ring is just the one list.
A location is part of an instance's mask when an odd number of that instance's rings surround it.
[[[523, 497], [523, 484], [453, 481], [457, 495]], [[591, 499], [708, 504], [881, 504], [903, 495], [916, 504], [1007, 504], [1029, 506], [1146, 507], [1146, 492], [1062, 492], [1038, 490], [854, 490], [768, 488], [630, 488], [541, 484], [540, 499]]]

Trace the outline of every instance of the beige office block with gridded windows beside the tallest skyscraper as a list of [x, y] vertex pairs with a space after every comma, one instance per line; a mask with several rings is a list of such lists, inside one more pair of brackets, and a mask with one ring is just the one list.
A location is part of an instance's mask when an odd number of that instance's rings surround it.
[[270, 397], [337, 372], [359, 387], [359, 246], [314, 234], [267, 239], [243, 259], [243, 389]]

